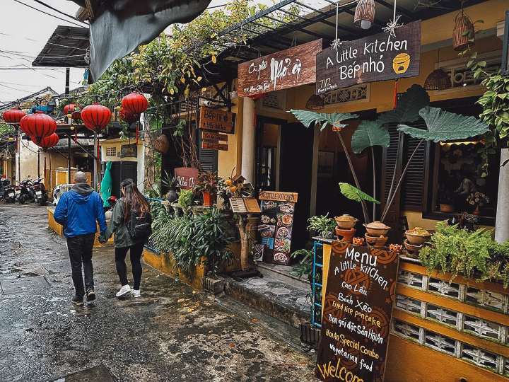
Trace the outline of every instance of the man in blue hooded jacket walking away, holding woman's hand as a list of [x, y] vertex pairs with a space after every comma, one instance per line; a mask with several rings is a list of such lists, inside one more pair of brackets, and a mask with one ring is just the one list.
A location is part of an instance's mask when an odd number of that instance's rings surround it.
[[[86, 183], [86, 174], [81, 171], [74, 175], [74, 186], [64, 192], [54, 212], [54, 219], [64, 226], [64, 236], [71, 259], [72, 279], [76, 295], [72, 302], [83, 305], [83, 296], [87, 301], [95, 300], [93, 284], [92, 250], [97, 232], [97, 224], [101, 235], [106, 231], [106, 219], [103, 200], [100, 195]], [[85, 287], [81, 263], [85, 273]]]

